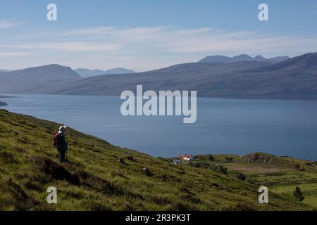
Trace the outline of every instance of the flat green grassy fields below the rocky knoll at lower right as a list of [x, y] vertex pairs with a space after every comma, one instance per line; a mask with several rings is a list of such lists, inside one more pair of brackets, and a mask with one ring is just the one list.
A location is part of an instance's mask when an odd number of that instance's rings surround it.
[[[244, 158], [237, 155], [213, 155], [213, 157], [216, 159], [216, 163], [227, 167], [230, 174], [242, 172], [247, 175], [247, 181], [250, 183], [267, 186], [269, 190], [287, 199], [295, 200], [293, 191], [296, 186], [299, 186], [305, 196], [303, 203], [317, 209], [316, 162], [280, 157], [278, 163], [246, 163]], [[226, 162], [226, 157], [232, 157], [232, 162]], [[294, 169], [294, 165], [300, 165], [304, 168], [303, 171]]]

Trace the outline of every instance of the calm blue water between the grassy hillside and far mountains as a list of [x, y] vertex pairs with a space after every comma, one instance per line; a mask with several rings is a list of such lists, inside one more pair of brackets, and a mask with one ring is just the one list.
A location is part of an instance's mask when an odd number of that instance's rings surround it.
[[197, 122], [183, 124], [182, 117], [123, 117], [118, 96], [14, 96], [22, 98], [1, 100], [11, 112], [153, 156], [261, 151], [317, 160], [316, 101], [199, 98]]

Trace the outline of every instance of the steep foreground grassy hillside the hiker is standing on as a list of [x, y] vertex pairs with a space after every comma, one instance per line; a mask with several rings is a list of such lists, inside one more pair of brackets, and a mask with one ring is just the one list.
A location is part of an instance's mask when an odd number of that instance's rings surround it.
[[[57, 127], [0, 110], [0, 210], [311, 210], [273, 193], [270, 204], [260, 205], [258, 186], [210, 169], [171, 165], [73, 129], [71, 163], [58, 165], [50, 146]], [[58, 204], [46, 203], [49, 186], [58, 189]]]

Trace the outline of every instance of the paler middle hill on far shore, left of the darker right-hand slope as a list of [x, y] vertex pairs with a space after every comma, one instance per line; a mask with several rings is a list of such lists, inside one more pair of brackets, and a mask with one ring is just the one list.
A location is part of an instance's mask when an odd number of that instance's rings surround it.
[[137, 84], [144, 89], [159, 90], [197, 90], [200, 96], [215, 89], [220, 79], [227, 73], [271, 65], [266, 62], [237, 63], [184, 63], [168, 68], [139, 72], [133, 75], [103, 75], [61, 84], [45, 89], [49, 94], [87, 94], [87, 95], [120, 95], [125, 90], [135, 90]]

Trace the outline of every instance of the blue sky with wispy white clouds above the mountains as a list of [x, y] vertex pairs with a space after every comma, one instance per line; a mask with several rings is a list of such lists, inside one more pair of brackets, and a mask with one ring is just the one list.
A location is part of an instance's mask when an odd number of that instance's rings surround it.
[[317, 51], [316, 22], [317, 0], [2, 0], [0, 69], [141, 72], [211, 55], [299, 56]]

